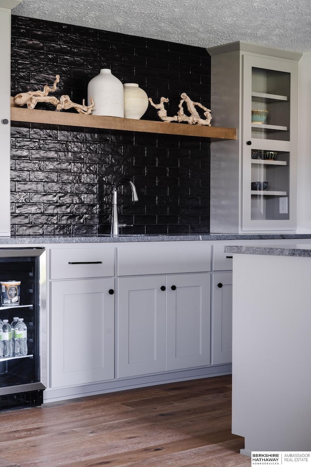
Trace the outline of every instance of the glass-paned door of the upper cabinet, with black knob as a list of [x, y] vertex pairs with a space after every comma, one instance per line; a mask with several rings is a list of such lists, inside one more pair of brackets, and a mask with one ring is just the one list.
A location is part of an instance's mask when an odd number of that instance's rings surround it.
[[242, 96], [242, 230], [294, 230], [296, 63], [244, 54]]

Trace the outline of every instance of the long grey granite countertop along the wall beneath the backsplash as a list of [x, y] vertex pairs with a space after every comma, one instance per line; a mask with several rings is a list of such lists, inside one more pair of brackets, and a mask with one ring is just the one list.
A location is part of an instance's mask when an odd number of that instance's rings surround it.
[[[49, 243], [120, 243], [120, 242], [175, 242], [175, 241], [215, 241], [215, 240], [284, 240], [286, 238], [310, 238], [311, 234], [189, 234], [189, 235], [22, 235], [0, 237], [0, 245], [5, 244], [49, 244]], [[242, 247], [241, 247], [242, 248]], [[241, 252], [241, 251], [239, 251]]]

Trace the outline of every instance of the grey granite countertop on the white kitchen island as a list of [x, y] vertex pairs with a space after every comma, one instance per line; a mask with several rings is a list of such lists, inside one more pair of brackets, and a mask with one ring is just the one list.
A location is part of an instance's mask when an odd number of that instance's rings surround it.
[[225, 253], [267, 254], [274, 256], [311, 256], [311, 243], [302, 245], [225, 246]]

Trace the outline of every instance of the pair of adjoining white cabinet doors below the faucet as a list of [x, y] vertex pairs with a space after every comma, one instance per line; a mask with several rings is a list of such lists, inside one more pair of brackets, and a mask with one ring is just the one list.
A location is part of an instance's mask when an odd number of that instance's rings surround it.
[[209, 273], [118, 280], [118, 377], [210, 364]]

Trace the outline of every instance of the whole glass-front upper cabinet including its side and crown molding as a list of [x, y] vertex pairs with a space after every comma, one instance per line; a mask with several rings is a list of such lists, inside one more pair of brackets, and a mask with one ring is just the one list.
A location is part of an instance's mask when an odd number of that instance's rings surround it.
[[302, 54], [243, 41], [207, 51], [212, 125], [237, 128], [210, 144], [210, 233], [294, 233]]

